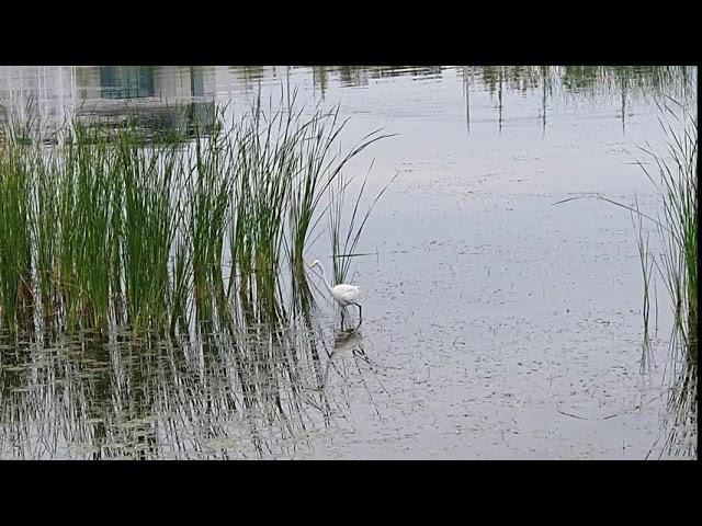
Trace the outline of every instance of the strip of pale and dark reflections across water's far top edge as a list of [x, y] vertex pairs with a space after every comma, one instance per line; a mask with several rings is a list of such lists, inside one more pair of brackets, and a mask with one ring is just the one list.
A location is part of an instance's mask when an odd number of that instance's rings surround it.
[[237, 93], [249, 94], [262, 83], [283, 85], [290, 92], [291, 75], [297, 83], [308, 78], [321, 99], [335, 84], [367, 88], [396, 78], [432, 82], [457, 78], [465, 94], [468, 130], [472, 92], [488, 92], [495, 99], [500, 132], [505, 92], [534, 92], [541, 95], [536, 110], [544, 134], [547, 111], [555, 103], [615, 99], [625, 129], [631, 103], [663, 95], [683, 100], [697, 92], [697, 68], [682, 66], [0, 67], [0, 105], [25, 116], [27, 102], [36, 101], [41, 121], [54, 124], [73, 113], [114, 117], [138, 108], [145, 121], [150, 115], [160, 126], [177, 127], [180, 119], [167, 116], [176, 105], [193, 104], [191, 118], [212, 115], [211, 106], [205, 110], [207, 103], [233, 99], [236, 103]]

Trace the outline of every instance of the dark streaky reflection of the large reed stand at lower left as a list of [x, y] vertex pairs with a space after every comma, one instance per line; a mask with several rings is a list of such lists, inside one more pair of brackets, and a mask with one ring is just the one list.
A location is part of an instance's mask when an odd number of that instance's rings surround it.
[[320, 354], [322, 332], [258, 327], [199, 342], [126, 334], [3, 339], [0, 457], [304, 453], [306, 434], [324, 432], [349, 407], [350, 377], [371, 373], [358, 363], [369, 362], [360, 335], [344, 336], [354, 342], [348, 352], [337, 335]]

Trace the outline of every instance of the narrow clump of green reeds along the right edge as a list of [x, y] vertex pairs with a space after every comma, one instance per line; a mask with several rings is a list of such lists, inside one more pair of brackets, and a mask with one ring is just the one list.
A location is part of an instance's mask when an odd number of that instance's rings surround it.
[[[695, 100], [697, 101], [697, 100]], [[698, 424], [698, 119], [697, 113], [669, 99], [659, 104], [668, 138], [667, 156], [643, 149], [658, 178], [639, 163], [660, 198], [657, 221], [661, 251], [657, 267], [673, 307], [671, 339], [675, 382], [668, 400], [669, 433], [661, 451], [697, 457]], [[660, 217], [661, 216], [661, 217]]]

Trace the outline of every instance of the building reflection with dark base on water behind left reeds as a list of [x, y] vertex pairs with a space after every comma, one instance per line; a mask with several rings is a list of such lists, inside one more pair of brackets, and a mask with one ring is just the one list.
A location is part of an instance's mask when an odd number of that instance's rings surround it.
[[146, 138], [210, 134], [215, 103], [202, 68], [154, 66], [0, 68], [0, 104], [50, 134], [72, 117], [116, 128], [128, 119]]

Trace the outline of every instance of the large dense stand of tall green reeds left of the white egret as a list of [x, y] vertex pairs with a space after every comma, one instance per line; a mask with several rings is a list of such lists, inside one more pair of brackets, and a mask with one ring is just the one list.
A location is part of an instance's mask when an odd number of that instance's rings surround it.
[[259, 100], [227, 129], [224, 121], [219, 108], [206, 125], [154, 137], [135, 118], [117, 127], [73, 118], [46, 146], [36, 123], [10, 119], [0, 153], [2, 324], [172, 333], [283, 316], [284, 270], [306, 288], [304, 255], [326, 191], [385, 136], [341, 155], [338, 108], [306, 115], [294, 95], [278, 108]]

